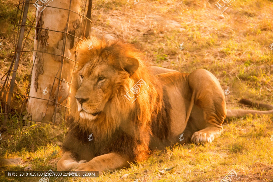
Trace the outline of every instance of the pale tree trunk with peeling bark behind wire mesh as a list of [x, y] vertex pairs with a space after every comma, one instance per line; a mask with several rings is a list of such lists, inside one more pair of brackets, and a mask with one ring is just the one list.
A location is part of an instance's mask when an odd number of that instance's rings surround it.
[[[69, 9], [70, 1], [44, 0], [43, 2], [45, 2], [45, 4], [43, 4], [42, 1], [38, 2], [40, 6], [44, 6], [39, 8], [39, 11], [36, 10], [36, 27], [41, 27], [43, 29], [36, 28], [35, 30], [34, 50], [62, 55], [66, 34], [61, 32], [66, 31], [69, 11], [57, 8]], [[46, 5], [57, 8], [47, 7]], [[72, 0], [71, 10], [80, 14], [80, 5], [80, 0]], [[44, 10], [42, 11], [42, 9]], [[74, 12], [70, 12], [68, 33], [80, 37], [82, 17]], [[77, 38], [67, 35], [64, 56], [75, 60], [75, 45], [77, 41]], [[42, 52], [34, 52], [33, 54], [33, 61], [35, 60], [35, 62], [32, 70], [29, 96], [50, 99], [65, 105], [64, 101], [66, 101], [66, 98], [68, 97], [69, 84], [62, 81], [60, 82], [59, 98], [57, 98], [59, 80], [55, 79], [55, 76], [59, 78], [61, 75], [60, 79], [70, 83], [75, 63], [65, 58], [61, 73], [62, 57]], [[44, 92], [45, 88], [46, 91]], [[47, 94], [44, 95], [43, 92]], [[27, 111], [32, 120], [52, 122], [52, 116], [55, 113], [55, 103], [49, 102], [48, 104], [47, 100], [42, 99], [29, 97]]]

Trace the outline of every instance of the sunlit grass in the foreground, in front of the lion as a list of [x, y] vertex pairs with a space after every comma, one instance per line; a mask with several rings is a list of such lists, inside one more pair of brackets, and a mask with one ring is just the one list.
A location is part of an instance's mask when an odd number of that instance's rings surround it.
[[[188, 143], [167, 148], [166, 151], [153, 151], [147, 161], [131, 165], [127, 169], [105, 173], [91, 181], [219, 181], [218, 178], [223, 178], [232, 169], [241, 179], [249, 179], [251, 174], [256, 173], [261, 179], [269, 179], [267, 175], [262, 176], [256, 167], [270, 167], [273, 164], [273, 143], [269, 138], [273, 129], [271, 120], [272, 115], [233, 118], [224, 124], [221, 137], [213, 143]], [[24, 167], [31, 165], [32, 170], [56, 170], [56, 163], [62, 154], [59, 145], [65, 132], [50, 125], [17, 130], [8, 128], [2, 134], [0, 145], [4, 158], [21, 157], [26, 161]], [[0, 170], [22, 170], [24, 167], [1, 167]], [[170, 167], [175, 168], [165, 174], [159, 172]], [[129, 176], [121, 179], [124, 174]], [[0, 181], [2, 180], [5, 178], [0, 177]], [[14, 181], [35, 180], [39, 179], [20, 178]], [[62, 180], [72, 181], [69, 178]]]

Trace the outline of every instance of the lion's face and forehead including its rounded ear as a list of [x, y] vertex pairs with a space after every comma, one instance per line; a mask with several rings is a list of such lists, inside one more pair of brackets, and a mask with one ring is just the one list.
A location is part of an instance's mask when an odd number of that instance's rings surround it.
[[[125, 62], [124, 66], [117, 66], [120, 64], [116, 63], [120, 61], [122, 64]], [[75, 98], [79, 116], [94, 120], [102, 114], [106, 103], [120, 91], [126, 82], [126, 78], [137, 67], [138, 61], [136, 59], [116, 60], [115, 57], [107, 55], [86, 62], [75, 75], [78, 77], [78, 89]]]

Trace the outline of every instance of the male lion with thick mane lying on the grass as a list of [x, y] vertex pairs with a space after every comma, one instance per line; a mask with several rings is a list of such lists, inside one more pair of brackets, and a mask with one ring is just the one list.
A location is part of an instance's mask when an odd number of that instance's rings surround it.
[[150, 150], [212, 142], [226, 117], [273, 113], [227, 110], [220, 83], [209, 71], [147, 68], [141, 52], [122, 41], [91, 37], [79, 44], [76, 61], [69, 132], [57, 170], [127, 167], [147, 159]]

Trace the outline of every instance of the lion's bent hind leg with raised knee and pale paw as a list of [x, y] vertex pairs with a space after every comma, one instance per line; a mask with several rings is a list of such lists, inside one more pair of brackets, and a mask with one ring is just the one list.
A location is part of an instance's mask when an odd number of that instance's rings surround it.
[[[217, 78], [205, 69], [197, 69], [189, 77], [192, 102], [201, 108], [202, 118], [198, 119], [196, 131], [191, 136], [194, 143], [212, 142], [221, 135], [222, 123], [227, 114], [224, 92]], [[199, 122], [199, 123], [198, 123]]]

